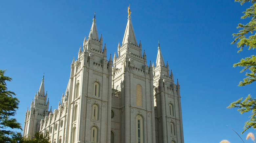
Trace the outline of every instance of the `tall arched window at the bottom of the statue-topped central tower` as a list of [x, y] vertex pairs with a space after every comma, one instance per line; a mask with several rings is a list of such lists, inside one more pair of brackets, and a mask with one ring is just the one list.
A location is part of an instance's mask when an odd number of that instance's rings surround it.
[[136, 117], [136, 143], [143, 143], [143, 118], [138, 115]]

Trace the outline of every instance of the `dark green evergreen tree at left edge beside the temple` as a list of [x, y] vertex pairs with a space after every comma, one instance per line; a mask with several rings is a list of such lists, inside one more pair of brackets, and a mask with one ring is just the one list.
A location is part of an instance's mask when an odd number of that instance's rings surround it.
[[0, 70], [0, 142], [12, 142], [12, 137], [18, 135], [11, 129], [21, 129], [20, 123], [16, 119], [11, 118], [16, 114], [19, 100], [15, 97], [15, 93], [7, 90], [6, 81], [12, 79], [5, 75], [5, 70]]

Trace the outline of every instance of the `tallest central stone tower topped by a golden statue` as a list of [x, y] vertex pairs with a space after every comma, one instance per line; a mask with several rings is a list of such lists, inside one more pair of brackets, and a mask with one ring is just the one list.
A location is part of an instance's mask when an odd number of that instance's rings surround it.
[[[122, 46], [113, 62], [112, 110], [119, 115], [112, 119], [112, 129], [122, 143], [154, 143], [155, 113], [153, 100], [153, 70], [149, 70], [145, 52], [142, 56], [133, 30], [130, 9]], [[115, 101], [115, 102], [114, 102]], [[118, 103], [118, 104], [117, 104]]]

